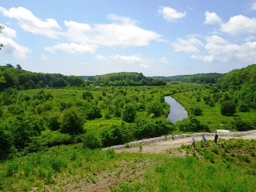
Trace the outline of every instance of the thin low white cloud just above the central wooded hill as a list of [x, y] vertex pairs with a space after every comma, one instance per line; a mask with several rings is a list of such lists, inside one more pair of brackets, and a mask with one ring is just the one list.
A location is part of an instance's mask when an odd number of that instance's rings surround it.
[[145, 58], [144, 55], [141, 53], [138, 53], [136, 55], [110, 55], [110, 59], [117, 60], [123, 63], [129, 63], [129, 64], [140, 64], [141, 68], [149, 68], [150, 65], [155, 62], [155, 60], [150, 58]]

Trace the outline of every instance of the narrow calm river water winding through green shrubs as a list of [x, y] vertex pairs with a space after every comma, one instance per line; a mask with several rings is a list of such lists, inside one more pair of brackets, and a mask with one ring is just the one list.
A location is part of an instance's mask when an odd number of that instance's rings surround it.
[[185, 119], [189, 116], [185, 108], [181, 104], [179, 104], [175, 99], [173, 99], [171, 96], [166, 96], [164, 100], [171, 106], [170, 113], [168, 114], [167, 119], [169, 119], [173, 123], [175, 123], [176, 121]]

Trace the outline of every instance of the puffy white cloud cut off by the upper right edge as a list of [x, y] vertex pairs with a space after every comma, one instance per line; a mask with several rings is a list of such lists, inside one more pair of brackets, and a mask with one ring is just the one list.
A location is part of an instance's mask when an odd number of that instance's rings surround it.
[[225, 33], [243, 34], [243, 33], [256, 33], [256, 19], [245, 17], [243, 15], [236, 15], [230, 17], [227, 23], [221, 24], [221, 31]]

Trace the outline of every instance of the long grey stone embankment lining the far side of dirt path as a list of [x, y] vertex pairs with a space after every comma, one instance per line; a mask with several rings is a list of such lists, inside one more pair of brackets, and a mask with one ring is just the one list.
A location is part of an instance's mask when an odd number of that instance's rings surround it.
[[[127, 144], [123, 145], [117, 145], [117, 146], [111, 146], [104, 148], [103, 150], [107, 149], [121, 149], [124, 148], [126, 145], [129, 146], [138, 146], [138, 145], [143, 145], [143, 144], [149, 144], [149, 143], [156, 143], [156, 142], [162, 142], [166, 140], [173, 140], [173, 139], [182, 139], [182, 138], [188, 138], [188, 137], [197, 137], [197, 136], [214, 136], [215, 133], [212, 132], [196, 132], [196, 133], [191, 133], [191, 134], [181, 134], [181, 135], [168, 135], [166, 137], [156, 137], [156, 138], [151, 138], [151, 139], [142, 139], [138, 141], [132, 141]], [[256, 130], [252, 131], [246, 131], [246, 132], [227, 132], [227, 133], [218, 133], [218, 136], [220, 137], [239, 137], [243, 135], [256, 135]]]

